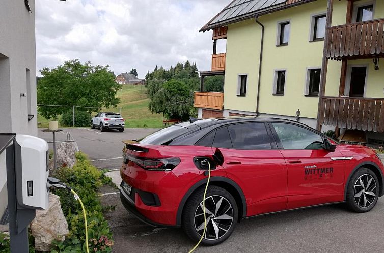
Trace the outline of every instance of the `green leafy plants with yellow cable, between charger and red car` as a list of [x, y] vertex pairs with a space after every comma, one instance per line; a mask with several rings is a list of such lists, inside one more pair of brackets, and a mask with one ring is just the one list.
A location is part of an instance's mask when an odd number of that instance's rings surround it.
[[[51, 175], [72, 187], [80, 197], [86, 209], [88, 222], [88, 244], [90, 252], [112, 251], [112, 233], [102, 214], [102, 206], [97, 197], [97, 190], [102, 185], [104, 176], [88, 160], [88, 157], [78, 152], [73, 169], [61, 168]], [[68, 191], [54, 190], [60, 196], [63, 213], [69, 227], [69, 234], [64, 242], [55, 242], [52, 252], [85, 252], [85, 226], [81, 206]]]

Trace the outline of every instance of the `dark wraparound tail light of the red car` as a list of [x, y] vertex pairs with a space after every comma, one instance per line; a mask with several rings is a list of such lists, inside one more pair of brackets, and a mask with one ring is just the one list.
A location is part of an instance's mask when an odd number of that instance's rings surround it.
[[131, 161], [145, 170], [152, 171], [171, 171], [180, 163], [180, 158], [177, 157], [153, 159], [126, 155], [124, 160], [126, 163]]

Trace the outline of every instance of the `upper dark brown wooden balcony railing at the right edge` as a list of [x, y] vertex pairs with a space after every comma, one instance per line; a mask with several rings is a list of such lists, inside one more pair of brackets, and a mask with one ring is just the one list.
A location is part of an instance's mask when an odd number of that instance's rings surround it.
[[330, 27], [326, 57], [372, 58], [384, 55], [384, 19]]

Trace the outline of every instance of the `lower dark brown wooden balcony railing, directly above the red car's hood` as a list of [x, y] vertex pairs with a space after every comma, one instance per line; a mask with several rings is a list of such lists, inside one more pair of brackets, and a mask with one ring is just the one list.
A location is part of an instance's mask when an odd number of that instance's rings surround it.
[[324, 97], [320, 124], [384, 132], [384, 99]]

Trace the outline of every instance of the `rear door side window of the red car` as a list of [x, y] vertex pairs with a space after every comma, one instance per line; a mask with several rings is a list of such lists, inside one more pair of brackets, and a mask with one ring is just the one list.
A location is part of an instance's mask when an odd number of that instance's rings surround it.
[[264, 123], [243, 123], [228, 126], [234, 149], [272, 149]]

